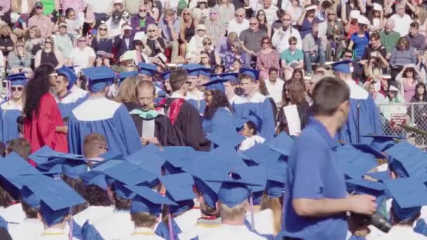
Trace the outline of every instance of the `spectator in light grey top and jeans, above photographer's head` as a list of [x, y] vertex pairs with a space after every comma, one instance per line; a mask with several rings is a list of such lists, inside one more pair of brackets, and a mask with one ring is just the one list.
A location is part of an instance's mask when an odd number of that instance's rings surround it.
[[313, 74], [311, 64], [318, 63], [324, 67], [326, 62], [326, 39], [322, 39], [319, 35], [319, 24], [313, 22], [311, 34], [307, 34], [303, 39], [304, 62], [306, 63], [306, 71], [308, 74]]

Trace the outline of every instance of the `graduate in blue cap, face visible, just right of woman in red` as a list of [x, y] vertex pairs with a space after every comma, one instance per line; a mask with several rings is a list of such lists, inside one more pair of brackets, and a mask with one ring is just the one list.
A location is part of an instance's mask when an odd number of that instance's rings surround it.
[[[89, 95], [86, 91], [76, 86], [77, 75], [71, 67], [63, 66], [57, 69], [56, 73], [58, 74], [58, 78], [55, 85], [55, 100], [58, 102], [63, 119], [68, 119], [72, 109], [87, 100]], [[74, 91], [72, 91], [72, 88], [74, 88]]]

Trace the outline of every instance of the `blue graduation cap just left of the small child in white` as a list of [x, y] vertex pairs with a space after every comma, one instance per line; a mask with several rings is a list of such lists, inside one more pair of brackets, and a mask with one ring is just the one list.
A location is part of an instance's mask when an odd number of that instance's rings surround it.
[[235, 147], [245, 140], [245, 137], [237, 133], [235, 128], [232, 128], [231, 126], [217, 128], [213, 133], [207, 135], [206, 138], [220, 147]]

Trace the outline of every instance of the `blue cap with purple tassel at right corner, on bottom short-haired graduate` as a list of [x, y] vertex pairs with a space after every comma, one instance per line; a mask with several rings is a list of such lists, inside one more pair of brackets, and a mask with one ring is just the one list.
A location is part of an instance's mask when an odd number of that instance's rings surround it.
[[145, 186], [127, 186], [136, 196], [131, 202], [131, 213], [150, 213], [159, 216], [162, 214], [162, 204], [176, 206], [177, 204], [170, 199], [154, 192], [150, 187]]

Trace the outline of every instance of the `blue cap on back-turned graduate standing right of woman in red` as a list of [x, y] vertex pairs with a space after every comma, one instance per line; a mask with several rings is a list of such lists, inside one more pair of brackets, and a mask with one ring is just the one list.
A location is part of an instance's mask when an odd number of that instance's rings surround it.
[[115, 74], [110, 67], [88, 67], [81, 69], [81, 72], [88, 77], [89, 89], [93, 93], [103, 90], [112, 84]]

